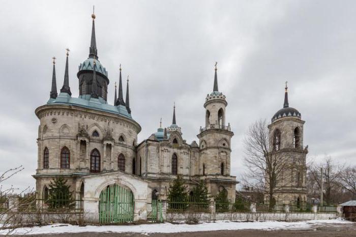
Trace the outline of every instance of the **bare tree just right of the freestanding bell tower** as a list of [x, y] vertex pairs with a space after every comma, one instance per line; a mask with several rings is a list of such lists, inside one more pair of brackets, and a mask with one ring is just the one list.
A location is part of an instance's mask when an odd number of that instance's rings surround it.
[[[338, 202], [337, 195], [340, 195], [340, 175], [342, 166], [336, 164], [330, 156], [325, 156], [321, 163], [312, 164], [309, 169], [309, 178], [314, 182], [314, 187], [321, 190], [321, 175], [323, 179], [323, 199], [327, 203]], [[322, 173], [321, 173], [322, 170]], [[320, 194], [320, 191], [319, 191]]]

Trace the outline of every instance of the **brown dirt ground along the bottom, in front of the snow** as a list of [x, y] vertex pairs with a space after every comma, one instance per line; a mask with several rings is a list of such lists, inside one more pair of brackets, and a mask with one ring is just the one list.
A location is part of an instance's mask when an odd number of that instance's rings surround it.
[[[94, 237], [94, 236], [129, 236], [129, 237], [142, 237], [141, 233], [63, 233], [63, 234], [44, 234], [44, 235], [24, 235], [24, 236], [50, 236], [50, 237]], [[338, 225], [338, 226], [316, 226], [306, 230], [219, 230], [219, 231], [201, 231], [201, 232], [181, 232], [181, 233], [152, 233], [152, 237], [349, 237], [356, 236], [356, 223], [354, 225]]]

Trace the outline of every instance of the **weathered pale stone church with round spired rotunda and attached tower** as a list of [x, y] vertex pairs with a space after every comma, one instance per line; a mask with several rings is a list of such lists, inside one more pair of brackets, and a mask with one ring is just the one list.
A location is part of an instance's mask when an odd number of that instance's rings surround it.
[[[135, 108], [130, 107], [128, 79], [124, 98], [121, 66], [118, 92], [115, 83], [114, 101], [112, 104], [107, 101], [110, 81], [102, 63], [104, 60], [99, 61], [95, 18], [93, 13], [88, 57], [78, 66], [79, 97], [72, 97], [67, 49], [60, 93], [57, 93], [53, 57], [49, 100], [35, 110], [40, 120], [38, 167], [33, 175], [38, 194], [46, 198], [50, 182], [63, 177], [76, 197], [83, 200], [84, 210], [94, 220], [103, 210], [105, 195], [116, 195], [117, 190], [125, 191], [127, 200], [132, 202], [133, 220], [145, 219], [147, 204], [153, 199], [167, 199], [169, 185], [178, 175], [185, 181], [188, 192], [202, 180], [212, 196], [226, 191], [228, 198], [233, 199], [238, 183], [236, 177], [230, 175], [231, 137], [234, 134], [225, 121], [227, 100], [219, 92], [216, 65], [212, 75], [213, 90], [202, 100], [205, 117], [201, 121], [205, 126], [199, 129], [198, 142], [184, 139], [184, 130], [175, 119], [175, 106], [169, 127], [160, 126], [150, 137], [138, 141], [141, 126], [134, 119]], [[272, 130], [283, 125], [283, 121], [286, 126], [303, 126], [299, 113], [284, 110], [274, 116]], [[278, 137], [281, 141], [284, 136], [290, 137], [289, 132], [284, 134], [283, 128]], [[301, 142], [299, 140], [298, 149]], [[283, 142], [279, 144], [282, 149]], [[106, 190], [110, 187], [116, 191], [108, 194]], [[290, 187], [286, 190], [290, 191]], [[300, 190], [303, 192], [303, 187]]]

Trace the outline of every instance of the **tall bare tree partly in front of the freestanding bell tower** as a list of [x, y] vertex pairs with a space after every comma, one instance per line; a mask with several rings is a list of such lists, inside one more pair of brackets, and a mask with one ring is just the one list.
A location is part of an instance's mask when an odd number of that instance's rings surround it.
[[248, 172], [244, 181], [268, 195], [270, 206], [274, 194], [292, 182], [292, 161], [289, 155], [273, 149], [266, 120], [256, 121], [249, 127], [244, 139], [245, 165]]

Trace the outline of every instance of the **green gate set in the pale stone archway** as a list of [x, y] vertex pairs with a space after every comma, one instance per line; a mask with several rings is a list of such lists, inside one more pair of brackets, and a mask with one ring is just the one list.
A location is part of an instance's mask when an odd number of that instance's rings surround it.
[[117, 184], [107, 186], [100, 193], [99, 222], [124, 223], [133, 221], [134, 196], [130, 189]]

